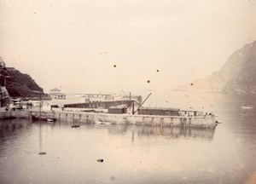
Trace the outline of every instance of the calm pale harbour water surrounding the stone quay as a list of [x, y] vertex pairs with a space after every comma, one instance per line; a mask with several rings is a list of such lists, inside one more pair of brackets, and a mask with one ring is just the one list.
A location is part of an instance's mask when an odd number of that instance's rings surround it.
[[241, 103], [253, 104], [253, 98], [165, 96], [153, 96], [149, 103], [204, 106], [223, 124], [216, 129], [125, 124], [72, 129], [67, 122], [0, 121], [0, 183], [246, 183], [256, 175], [256, 115], [251, 110], [240, 116]]

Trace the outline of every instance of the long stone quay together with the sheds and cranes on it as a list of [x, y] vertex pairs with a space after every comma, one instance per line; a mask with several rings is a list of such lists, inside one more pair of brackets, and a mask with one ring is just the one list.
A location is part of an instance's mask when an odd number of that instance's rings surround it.
[[[0, 58], [1, 59], [1, 58]], [[6, 118], [35, 118], [55, 121], [71, 121], [79, 124], [143, 124], [152, 126], [176, 126], [176, 127], [201, 127], [215, 128], [216, 121], [213, 114], [204, 114], [198, 111], [183, 111], [178, 108], [152, 108], [144, 107], [143, 104], [148, 100], [146, 97], [142, 101], [142, 96], [135, 95], [123, 96], [119, 100], [114, 100], [108, 94], [78, 94], [85, 98], [85, 102], [70, 103], [58, 106], [50, 104], [50, 109], [44, 110], [42, 107], [42, 97], [40, 92], [39, 109], [32, 109], [32, 102], [26, 102], [26, 109], [22, 106], [22, 101], [11, 99], [6, 86], [6, 67], [3, 60], [0, 60], [0, 87], [2, 100], [0, 103], [0, 119]], [[123, 91], [124, 92], [124, 91]], [[124, 92], [125, 93], [125, 92]], [[52, 89], [51, 95], [57, 99], [66, 99], [66, 95], [61, 94], [59, 89]], [[90, 98], [103, 98], [104, 101], [90, 101]], [[111, 99], [112, 98], [112, 99]], [[12, 102], [13, 104], [10, 104]], [[12, 105], [12, 106], [10, 106]], [[24, 104], [23, 104], [24, 105]], [[38, 107], [38, 106], [33, 106]], [[41, 116], [44, 115], [44, 116]], [[43, 118], [44, 117], [44, 118]]]

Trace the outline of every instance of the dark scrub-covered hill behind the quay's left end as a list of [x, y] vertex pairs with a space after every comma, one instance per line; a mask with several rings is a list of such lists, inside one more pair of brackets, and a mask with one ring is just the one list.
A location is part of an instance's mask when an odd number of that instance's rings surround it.
[[27, 74], [23, 74], [15, 68], [6, 68], [6, 89], [11, 97], [38, 99], [40, 93], [44, 99], [49, 95]]

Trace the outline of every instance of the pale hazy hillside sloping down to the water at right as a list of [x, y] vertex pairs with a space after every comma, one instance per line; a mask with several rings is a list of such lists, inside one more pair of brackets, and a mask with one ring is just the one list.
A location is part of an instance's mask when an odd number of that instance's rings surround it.
[[218, 72], [180, 89], [256, 94], [256, 41], [236, 50]]

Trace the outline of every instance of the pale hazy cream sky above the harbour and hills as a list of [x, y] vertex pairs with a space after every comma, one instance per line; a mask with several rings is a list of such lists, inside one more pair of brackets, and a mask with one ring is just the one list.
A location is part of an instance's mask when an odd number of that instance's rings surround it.
[[256, 39], [255, 0], [0, 3], [0, 56], [44, 91], [172, 89]]

